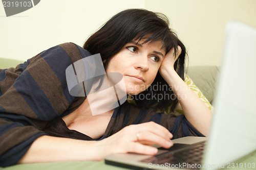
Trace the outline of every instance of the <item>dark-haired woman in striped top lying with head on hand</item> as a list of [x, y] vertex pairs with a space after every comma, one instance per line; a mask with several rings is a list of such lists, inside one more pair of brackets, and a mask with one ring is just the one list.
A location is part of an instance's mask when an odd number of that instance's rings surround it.
[[[107, 73], [122, 74], [137, 106], [125, 102], [92, 116], [87, 98], [69, 94], [66, 68], [97, 53]], [[173, 137], [206, 136], [211, 112], [183, 81], [185, 54], [164, 15], [131, 9], [113, 16], [83, 48], [60, 44], [1, 70], [1, 166], [103, 160], [113, 153], [154, 155], [150, 144], [169, 148]], [[169, 88], [151, 88], [159, 85]], [[137, 98], [141, 94], [147, 99]], [[159, 100], [159, 94], [177, 97]], [[153, 111], [174, 111], [178, 101], [185, 116]]]

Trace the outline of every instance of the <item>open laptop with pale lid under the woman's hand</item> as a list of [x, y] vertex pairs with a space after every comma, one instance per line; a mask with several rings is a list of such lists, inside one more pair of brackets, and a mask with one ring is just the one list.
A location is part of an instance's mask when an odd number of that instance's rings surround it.
[[209, 137], [174, 139], [173, 147], [159, 148], [155, 156], [113, 154], [105, 163], [132, 169], [241, 168], [236, 160], [256, 151], [255, 65], [256, 29], [229, 21]]

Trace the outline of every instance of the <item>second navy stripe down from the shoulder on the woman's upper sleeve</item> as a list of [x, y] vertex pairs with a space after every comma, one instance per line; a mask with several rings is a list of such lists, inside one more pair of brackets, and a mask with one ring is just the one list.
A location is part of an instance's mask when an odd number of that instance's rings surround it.
[[52, 120], [58, 116], [44, 91], [38, 86], [28, 70], [24, 70], [13, 87], [23, 96], [30, 108], [36, 113], [40, 120]]

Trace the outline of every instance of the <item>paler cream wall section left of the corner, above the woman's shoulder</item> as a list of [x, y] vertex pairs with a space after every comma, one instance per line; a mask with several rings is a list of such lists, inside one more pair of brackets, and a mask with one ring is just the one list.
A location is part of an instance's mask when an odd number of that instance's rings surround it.
[[128, 8], [145, 8], [145, 1], [41, 0], [9, 17], [1, 2], [0, 57], [27, 60], [63, 42], [82, 45], [105, 21]]

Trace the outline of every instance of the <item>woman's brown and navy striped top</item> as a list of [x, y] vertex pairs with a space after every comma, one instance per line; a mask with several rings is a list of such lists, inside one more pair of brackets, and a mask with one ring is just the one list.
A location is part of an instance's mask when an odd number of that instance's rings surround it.
[[[74, 43], [63, 43], [39, 53], [16, 68], [0, 69], [0, 166], [15, 164], [42, 135], [93, 140], [69, 130], [62, 120], [85, 100], [69, 94], [66, 68], [91, 54]], [[154, 121], [174, 138], [203, 136], [184, 117], [156, 113], [125, 102], [114, 110], [104, 135], [123, 127]]]

